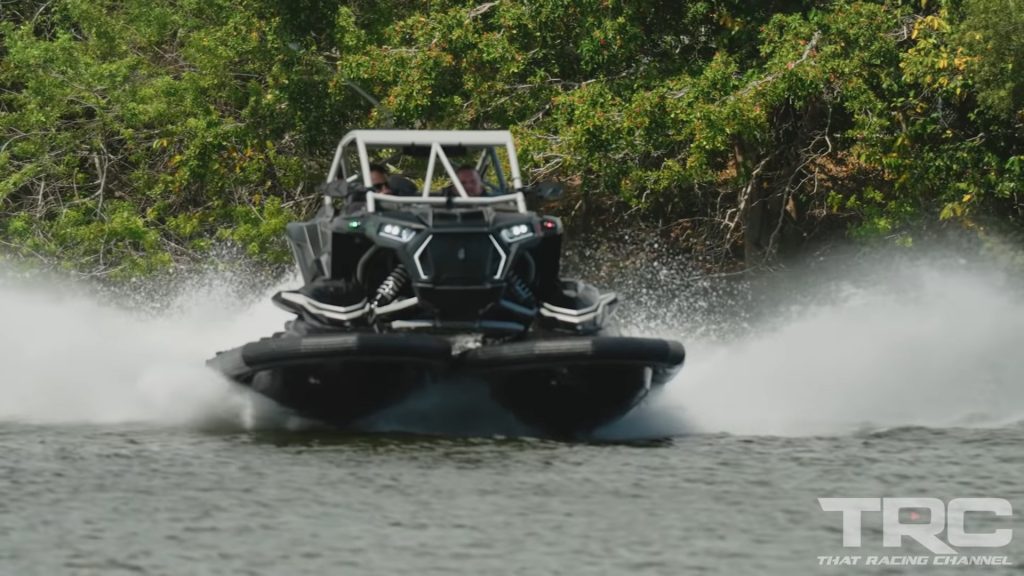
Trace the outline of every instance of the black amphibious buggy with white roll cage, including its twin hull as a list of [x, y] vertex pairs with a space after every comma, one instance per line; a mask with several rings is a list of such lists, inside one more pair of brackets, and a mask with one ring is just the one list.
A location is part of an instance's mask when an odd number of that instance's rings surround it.
[[[384, 149], [427, 159], [422, 191], [374, 187], [369, 151]], [[449, 160], [474, 153], [471, 167]], [[451, 183], [435, 195], [438, 164]], [[679, 371], [683, 346], [616, 335], [615, 294], [560, 279], [561, 221], [527, 210], [524, 190], [505, 131], [350, 132], [324, 208], [287, 228], [304, 284], [273, 301], [295, 319], [208, 365], [345, 427], [453, 377], [546, 435], [624, 416]]]

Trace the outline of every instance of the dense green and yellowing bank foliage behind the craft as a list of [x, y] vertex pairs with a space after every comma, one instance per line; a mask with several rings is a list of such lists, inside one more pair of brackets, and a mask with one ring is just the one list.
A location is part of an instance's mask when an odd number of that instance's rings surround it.
[[719, 263], [1022, 215], [1020, 0], [2, 0], [0, 18], [0, 241], [76, 270], [218, 241], [283, 257], [367, 126], [509, 127], [580, 225], [628, 217]]

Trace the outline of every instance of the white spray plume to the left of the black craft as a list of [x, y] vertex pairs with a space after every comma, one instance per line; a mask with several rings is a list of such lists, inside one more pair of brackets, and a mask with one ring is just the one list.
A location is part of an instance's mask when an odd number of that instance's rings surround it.
[[191, 284], [161, 311], [129, 312], [117, 298], [8, 279], [0, 285], [0, 422], [175, 424], [238, 413], [239, 390], [206, 359], [287, 317], [267, 297], [239, 299], [224, 279]]

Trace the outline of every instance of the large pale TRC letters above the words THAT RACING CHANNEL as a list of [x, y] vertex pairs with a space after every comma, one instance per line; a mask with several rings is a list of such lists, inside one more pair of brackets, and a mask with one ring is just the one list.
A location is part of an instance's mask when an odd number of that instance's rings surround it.
[[[882, 511], [882, 544], [899, 547], [903, 536], [916, 540], [934, 554], [955, 554], [951, 546], [997, 548], [1013, 540], [1013, 530], [1000, 528], [988, 533], [968, 533], [964, 527], [967, 512], [1013, 516], [1010, 502], [1002, 498], [954, 498], [946, 505], [938, 498], [818, 498], [826, 512], [843, 512], [843, 545], [860, 547], [861, 515]], [[916, 510], [928, 510], [927, 521]], [[911, 522], [900, 522], [900, 510], [910, 512]], [[939, 538], [946, 531], [946, 541]], [[948, 543], [947, 543], [948, 542]]]

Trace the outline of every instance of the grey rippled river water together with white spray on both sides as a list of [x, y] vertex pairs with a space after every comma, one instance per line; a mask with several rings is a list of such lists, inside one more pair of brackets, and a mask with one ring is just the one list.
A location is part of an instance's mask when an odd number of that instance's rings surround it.
[[[865, 512], [844, 547], [819, 506], [1001, 498], [1013, 517], [971, 512], [967, 531], [1022, 528], [1024, 300], [995, 273], [885, 278], [722, 330], [707, 286], [627, 285], [627, 325], [682, 339], [687, 366], [579, 443], [422, 402], [386, 435], [254, 419], [202, 364], [286, 320], [266, 294], [221, 279], [126, 312], [7, 281], [0, 574], [1019, 574], [1024, 534], [935, 556], [884, 547]], [[950, 558], [1013, 566], [934, 566]]]

